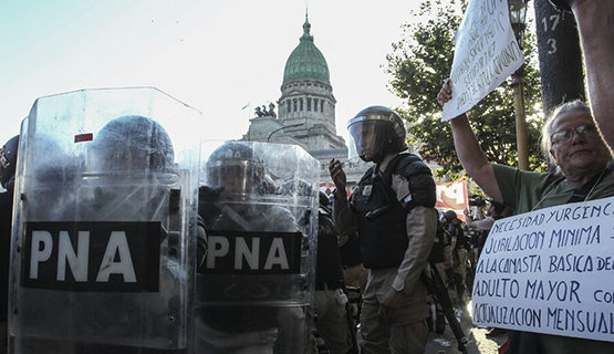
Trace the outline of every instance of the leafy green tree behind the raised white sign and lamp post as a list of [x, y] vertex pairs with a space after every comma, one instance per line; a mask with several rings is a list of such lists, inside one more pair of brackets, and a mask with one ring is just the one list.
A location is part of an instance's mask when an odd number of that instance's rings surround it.
[[[399, 114], [408, 123], [409, 143], [419, 145], [419, 153], [427, 162], [441, 166], [438, 175], [457, 175], [462, 166], [456, 156], [449, 124], [440, 122], [441, 107], [437, 94], [449, 75], [454, 59], [454, 34], [462, 20], [466, 1], [424, 0], [419, 10], [413, 11], [418, 21], [403, 25], [403, 38], [393, 43], [386, 55], [385, 72], [393, 79], [391, 91], [406, 100]], [[424, 21], [419, 21], [423, 19]], [[534, 37], [524, 40], [524, 97], [528, 143], [539, 146], [540, 82], [534, 59]], [[513, 90], [509, 82], [485, 97], [468, 112], [478, 142], [492, 163], [518, 166], [516, 147], [516, 115]], [[531, 149], [529, 164], [532, 170], [544, 170], [545, 160], [539, 149]]]

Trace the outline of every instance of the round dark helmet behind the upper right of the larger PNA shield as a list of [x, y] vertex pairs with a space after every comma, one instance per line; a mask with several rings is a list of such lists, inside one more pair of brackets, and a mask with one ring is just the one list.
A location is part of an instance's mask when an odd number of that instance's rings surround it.
[[170, 137], [156, 121], [127, 115], [108, 122], [92, 144], [96, 167], [106, 170], [164, 170], [173, 166]]

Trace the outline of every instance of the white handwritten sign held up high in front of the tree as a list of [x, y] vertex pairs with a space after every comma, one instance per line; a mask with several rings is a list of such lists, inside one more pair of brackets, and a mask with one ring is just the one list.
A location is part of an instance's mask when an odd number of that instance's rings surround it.
[[470, 0], [457, 32], [450, 73], [452, 100], [441, 121], [469, 111], [524, 63], [507, 0]]

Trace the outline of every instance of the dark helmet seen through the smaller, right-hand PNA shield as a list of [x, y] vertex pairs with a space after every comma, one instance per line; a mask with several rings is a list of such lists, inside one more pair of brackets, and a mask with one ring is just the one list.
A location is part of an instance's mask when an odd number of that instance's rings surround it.
[[207, 160], [208, 184], [228, 195], [268, 194], [264, 164], [249, 143], [223, 143]]

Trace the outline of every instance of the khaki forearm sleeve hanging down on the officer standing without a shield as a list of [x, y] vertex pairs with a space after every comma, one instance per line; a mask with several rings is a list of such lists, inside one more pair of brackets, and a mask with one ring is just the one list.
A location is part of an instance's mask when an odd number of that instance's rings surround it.
[[407, 215], [408, 246], [393, 282], [396, 291], [408, 294], [420, 280], [437, 232], [437, 212], [433, 208], [417, 206]]

